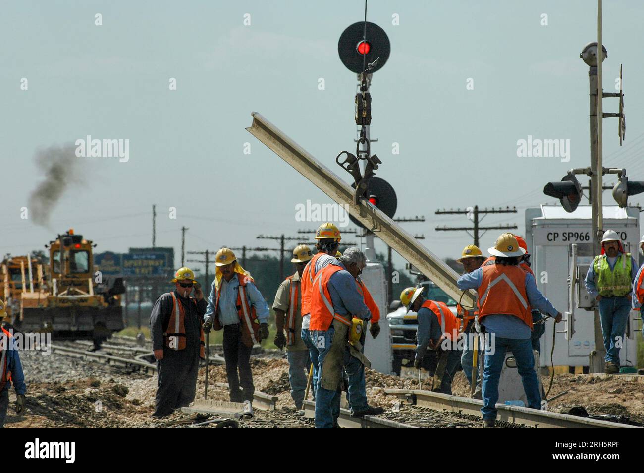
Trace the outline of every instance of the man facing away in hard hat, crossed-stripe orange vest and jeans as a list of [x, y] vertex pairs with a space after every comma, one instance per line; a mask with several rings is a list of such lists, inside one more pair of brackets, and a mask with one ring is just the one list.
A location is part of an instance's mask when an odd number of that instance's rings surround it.
[[541, 409], [541, 392], [531, 343], [532, 315], [529, 307], [552, 316], [555, 322], [561, 322], [562, 314], [537, 289], [535, 276], [518, 266], [525, 250], [518, 246], [514, 235], [500, 235], [495, 246], [489, 248], [488, 252], [496, 256], [495, 264], [484, 264], [475, 271], [460, 276], [457, 285], [459, 289], [477, 289], [479, 321], [486, 332], [493, 334], [493, 339], [486, 343], [481, 413], [484, 427], [494, 427], [497, 418], [495, 404], [498, 400], [498, 380], [507, 350], [515, 356], [528, 407]]

